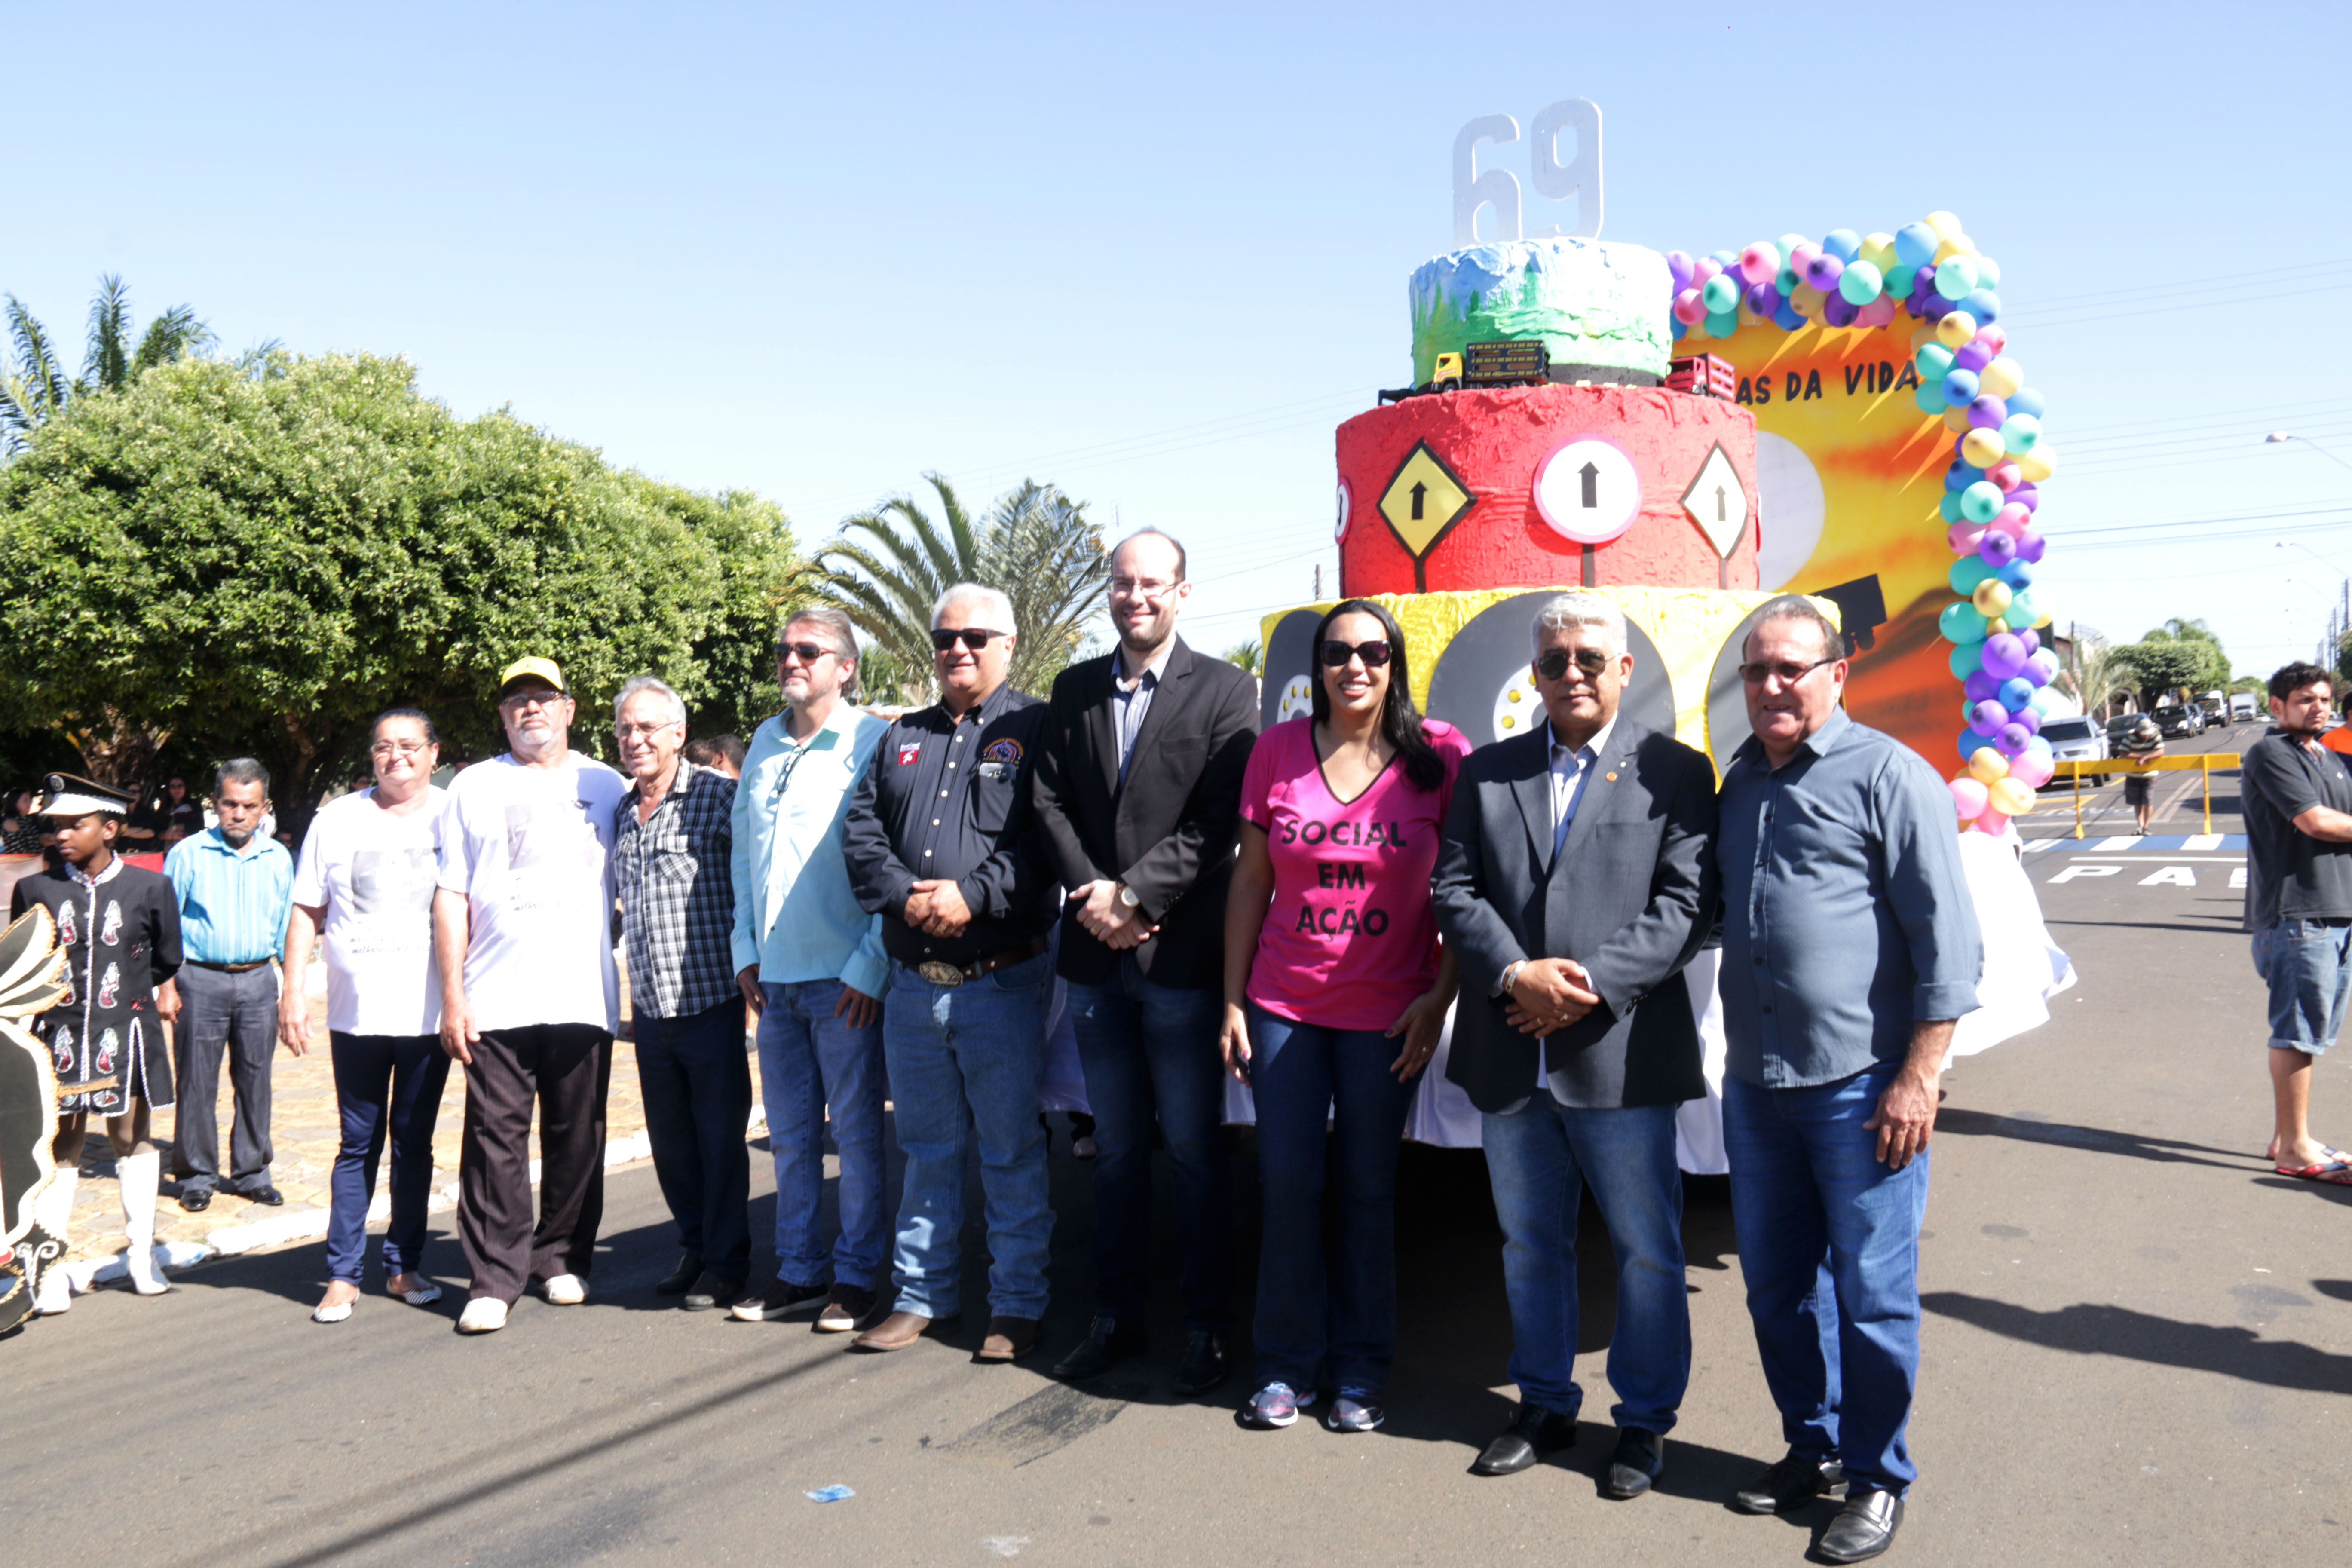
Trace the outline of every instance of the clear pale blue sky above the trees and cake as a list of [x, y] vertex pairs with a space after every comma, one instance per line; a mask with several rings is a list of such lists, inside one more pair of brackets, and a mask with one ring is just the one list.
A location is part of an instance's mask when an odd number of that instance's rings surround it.
[[2060, 623], [2204, 616], [2267, 672], [2352, 571], [2352, 468], [2260, 440], [2352, 463], [2352, 7], [9, 2], [0, 35], [40, 99], [0, 289], [52, 327], [118, 270], [811, 545], [927, 468], [1058, 482], [1185, 538], [1211, 649], [1331, 569], [1331, 428], [1406, 376], [1454, 132], [1564, 96], [1606, 115], [1611, 240], [1962, 216], [2051, 402]]

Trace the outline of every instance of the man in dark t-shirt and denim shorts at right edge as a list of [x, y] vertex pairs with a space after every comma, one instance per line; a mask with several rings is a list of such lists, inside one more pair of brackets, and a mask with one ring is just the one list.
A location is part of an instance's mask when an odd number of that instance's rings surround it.
[[2352, 990], [2352, 771], [2319, 743], [2328, 672], [2270, 677], [2272, 729], [2246, 748], [2246, 931], [2270, 985], [2270, 1088], [2279, 1175], [2352, 1187], [2352, 1154], [2310, 1131], [2312, 1058], [2336, 1044]]

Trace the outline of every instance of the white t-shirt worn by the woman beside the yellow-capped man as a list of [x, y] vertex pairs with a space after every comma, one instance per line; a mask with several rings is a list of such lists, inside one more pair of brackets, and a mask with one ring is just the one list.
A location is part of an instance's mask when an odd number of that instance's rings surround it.
[[327, 802], [294, 860], [294, 903], [327, 905], [327, 1027], [343, 1034], [433, 1034], [437, 823], [447, 792], [395, 816], [374, 790]]

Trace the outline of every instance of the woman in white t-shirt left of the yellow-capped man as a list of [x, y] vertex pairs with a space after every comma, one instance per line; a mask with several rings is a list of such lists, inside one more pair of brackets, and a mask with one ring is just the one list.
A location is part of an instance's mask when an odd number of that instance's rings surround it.
[[433, 1121], [449, 1056], [440, 1048], [440, 983], [433, 971], [433, 884], [442, 792], [433, 722], [414, 708], [376, 719], [369, 743], [376, 785], [329, 802], [303, 837], [287, 917], [287, 980], [278, 1039], [310, 1048], [310, 994], [301, 976], [325, 933], [327, 1044], [343, 1140], [334, 1154], [327, 1220], [327, 1295], [310, 1312], [341, 1324], [360, 1298], [367, 1206], [376, 1159], [393, 1145], [393, 1222], [383, 1234], [386, 1291], [412, 1307], [440, 1300], [416, 1265], [433, 1194]]

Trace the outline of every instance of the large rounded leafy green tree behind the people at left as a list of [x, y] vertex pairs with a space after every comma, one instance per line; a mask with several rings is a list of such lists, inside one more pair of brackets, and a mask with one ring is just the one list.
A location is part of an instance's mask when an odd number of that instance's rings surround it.
[[383, 708], [430, 712], [445, 755], [499, 750], [522, 654], [562, 663], [595, 752], [637, 670], [739, 717], [797, 576], [771, 503], [461, 421], [400, 360], [282, 353], [71, 400], [0, 468], [0, 729], [125, 785], [167, 743], [256, 755], [296, 830]]

